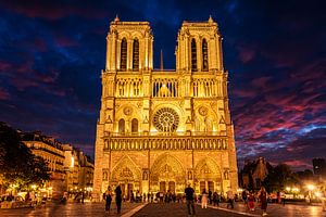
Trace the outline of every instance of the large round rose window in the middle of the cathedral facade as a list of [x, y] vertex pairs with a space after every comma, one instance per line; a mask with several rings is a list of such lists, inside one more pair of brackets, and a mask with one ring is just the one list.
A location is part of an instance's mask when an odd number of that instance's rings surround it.
[[163, 107], [154, 114], [153, 122], [159, 131], [172, 132], [178, 128], [179, 115], [171, 107]]

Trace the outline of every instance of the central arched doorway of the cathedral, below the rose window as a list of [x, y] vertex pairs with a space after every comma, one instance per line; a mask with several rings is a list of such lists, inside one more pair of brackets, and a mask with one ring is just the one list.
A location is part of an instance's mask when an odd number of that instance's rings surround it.
[[185, 169], [179, 161], [170, 154], [163, 154], [151, 167], [150, 190], [181, 193], [185, 189]]

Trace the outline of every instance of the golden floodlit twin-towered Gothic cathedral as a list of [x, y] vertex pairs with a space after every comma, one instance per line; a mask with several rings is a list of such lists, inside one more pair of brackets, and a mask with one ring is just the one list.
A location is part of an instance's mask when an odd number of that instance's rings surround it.
[[176, 69], [153, 69], [148, 22], [111, 22], [97, 124], [93, 196], [121, 184], [181, 193], [238, 188], [234, 126], [217, 24], [184, 22]]

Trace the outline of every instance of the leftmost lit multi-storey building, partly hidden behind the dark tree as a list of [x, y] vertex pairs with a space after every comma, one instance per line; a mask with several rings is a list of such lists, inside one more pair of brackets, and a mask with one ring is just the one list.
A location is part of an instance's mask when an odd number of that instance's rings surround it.
[[21, 133], [22, 141], [36, 156], [42, 157], [50, 169], [50, 181], [46, 183], [49, 196], [60, 196], [65, 191], [64, 151], [62, 144], [39, 131]]

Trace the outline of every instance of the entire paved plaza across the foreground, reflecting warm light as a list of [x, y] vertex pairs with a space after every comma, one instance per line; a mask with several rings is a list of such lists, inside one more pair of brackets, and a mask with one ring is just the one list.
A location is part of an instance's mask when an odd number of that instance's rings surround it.
[[[140, 209], [140, 210], [138, 210]], [[138, 210], [138, 212], [137, 212]], [[197, 217], [205, 216], [261, 216], [262, 212], [256, 208], [254, 212], [246, 210], [242, 203], [237, 203], [235, 209], [227, 209], [226, 204], [223, 203], [221, 206], [213, 207], [209, 206], [206, 209], [202, 209], [199, 205], [196, 206]], [[322, 212], [319, 205], [308, 206], [308, 205], [292, 205], [286, 206], [279, 204], [268, 204], [267, 208], [268, 216], [271, 217], [326, 217], [326, 212]], [[104, 203], [67, 203], [66, 205], [59, 205], [49, 203], [43, 207], [37, 208], [15, 208], [15, 209], [0, 209], [0, 216], [17, 216], [17, 217], [104, 217], [104, 216], [118, 216], [116, 214], [116, 206], [113, 203], [111, 213], [104, 212]], [[181, 203], [171, 204], [138, 204], [138, 203], [123, 203], [122, 217], [135, 216], [135, 217], [185, 217], [187, 216], [187, 206]]]

